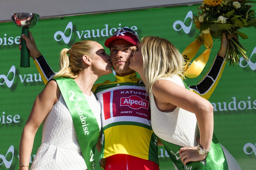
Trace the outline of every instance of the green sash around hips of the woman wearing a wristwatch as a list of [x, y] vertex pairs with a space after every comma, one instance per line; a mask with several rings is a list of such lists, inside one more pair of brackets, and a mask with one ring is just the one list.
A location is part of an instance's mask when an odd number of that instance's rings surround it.
[[188, 162], [186, 165], [184, 165], [181, 162], [181, 159], [179, 156], [179, 149], [182, 147], [179, 145], [175, 145], [173, 143], [169, 143], [165, 140], [162, 140], [161, 138], [159, 138], [159, 139], [164, 144], [167, 153], [169, 154], [170, 158], [172, 159], [172, 162], [177, 166], [178, 169], [228, 170], [228, 163], [227, 163], [226, 157], [224, 155], [224, 152], [221, 148], [220, 143], [218, 142], [218, 140], [214, 134], [213, 134], [213, 139], [211, 142], [211, 151], [206, 156], [206, 165], [205, 166], [200, 161]]

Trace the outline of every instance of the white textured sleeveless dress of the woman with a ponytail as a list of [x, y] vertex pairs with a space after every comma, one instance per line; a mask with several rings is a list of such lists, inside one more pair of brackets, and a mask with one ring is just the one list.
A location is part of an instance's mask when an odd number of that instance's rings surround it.
[[[92, 93], [92, 92], [91, 92]], [[84, 95], [101, 129], [101, 105], [94, 94]], [[86, 145], [86, 143], [84, 143]], [[77, 140], [74, 124], [67, 105], [60, 99], [53, 105], [43, 122], [42, 144], [30, 170], [86, 170], [87, 166]]]

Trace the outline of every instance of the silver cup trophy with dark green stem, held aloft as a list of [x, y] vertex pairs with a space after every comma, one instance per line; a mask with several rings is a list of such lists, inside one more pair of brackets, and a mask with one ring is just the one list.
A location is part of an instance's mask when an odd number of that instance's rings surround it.
[[[28, 36], [28, 29], [35, 26], [39, 20], [39, 15], [35, 13], [13, 13], [11, 14], [13, 23], [22, 29], [21, 34]], [[26, 46], [26, 41], [21, 37], [21, 67], [30, 67], [29, 50]]]

